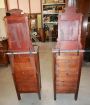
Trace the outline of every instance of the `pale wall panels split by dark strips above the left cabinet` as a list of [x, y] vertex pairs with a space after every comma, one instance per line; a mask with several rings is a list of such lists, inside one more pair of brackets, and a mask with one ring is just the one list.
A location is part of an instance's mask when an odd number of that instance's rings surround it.
[[[14, 9], [18, 8], [17, 0], [7, 0], [8, 8]], [[23, 10], [25, 13], [29, 13], [29, 0], [18, 0], [19, 9]], [[41, 1], [40, 0], [30, 0], [30, 10], [31, 13], [41, 13]]]

